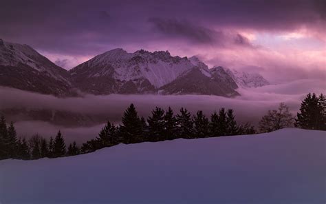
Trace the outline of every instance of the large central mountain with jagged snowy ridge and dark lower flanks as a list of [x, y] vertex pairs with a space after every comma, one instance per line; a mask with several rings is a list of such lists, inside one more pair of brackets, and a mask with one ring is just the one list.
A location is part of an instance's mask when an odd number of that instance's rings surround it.
[[166, 51], [115, 49], [70, 71], [72, 82], [93, 94], [214, 94], [235, 96], [235, 81], [228, 74], [210, 73], [197, 57], [172, 57]]

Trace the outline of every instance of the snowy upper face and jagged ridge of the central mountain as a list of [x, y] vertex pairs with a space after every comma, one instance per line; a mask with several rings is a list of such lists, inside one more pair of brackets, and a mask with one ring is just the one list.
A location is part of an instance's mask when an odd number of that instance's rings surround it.
[[[172, 57], [168, 51], [138, 50], [128, 53], [120, 48], [100, 54], [85, 63], [98, 70], [95, 74], [90, 72], [88, 77], [111, 75], [119, 81], [147, 79], [155, 88], [170, 83], [195, 66], [186, 57]], [[78, 65], [71, 72], [81, 70], [83, 66]]]

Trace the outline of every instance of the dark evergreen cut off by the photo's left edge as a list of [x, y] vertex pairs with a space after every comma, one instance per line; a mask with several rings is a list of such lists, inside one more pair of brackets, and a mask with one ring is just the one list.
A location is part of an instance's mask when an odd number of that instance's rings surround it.
[[0, 119], [0, 160], [8, 159], [10, 157], [8, 129], [5, 116]]

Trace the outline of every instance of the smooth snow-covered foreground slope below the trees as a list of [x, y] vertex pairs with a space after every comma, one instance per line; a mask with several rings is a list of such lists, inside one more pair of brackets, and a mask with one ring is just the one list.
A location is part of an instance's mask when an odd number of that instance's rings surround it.
[[325, 132], [177, 139], [0, 161], [0, 203], [325, 203]]

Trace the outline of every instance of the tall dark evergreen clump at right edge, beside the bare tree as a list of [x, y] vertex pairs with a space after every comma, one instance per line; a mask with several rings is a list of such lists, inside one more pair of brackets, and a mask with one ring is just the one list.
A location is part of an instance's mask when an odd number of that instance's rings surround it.
[[326, 130], [325, 96], [315, 93], [307, 94], [301, 103], [300, 112], [296, 114], [296, 127], [312, 130]]

